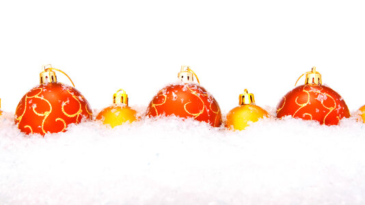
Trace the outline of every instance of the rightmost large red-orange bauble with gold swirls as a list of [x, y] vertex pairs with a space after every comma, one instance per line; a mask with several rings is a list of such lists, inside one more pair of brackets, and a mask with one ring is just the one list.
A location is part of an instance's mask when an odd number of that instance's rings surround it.
[[279, 102], [278, 118], [292, 115], [293, 118], [316, 120], [321, 124], [335, 125], [342, 118], [350, 117], [349, 109], [341, 96], [331, 88], [322, 85], [321, 74], [316, 72], [316, 67], [305, 74], [306, 83], [295, 87]]

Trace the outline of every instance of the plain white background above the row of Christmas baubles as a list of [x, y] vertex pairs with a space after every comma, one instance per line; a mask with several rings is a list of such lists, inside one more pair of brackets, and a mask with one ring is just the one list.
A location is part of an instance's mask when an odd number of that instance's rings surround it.
[[245, 88], [275, 107], [316, 66], [355, 111], [364, 19], [363, 1], [1, 1], [1, 109], [14, 112], [52, 64], [94, 109], [118, 88], [145, 107], [189, 65], [224, 112]]

